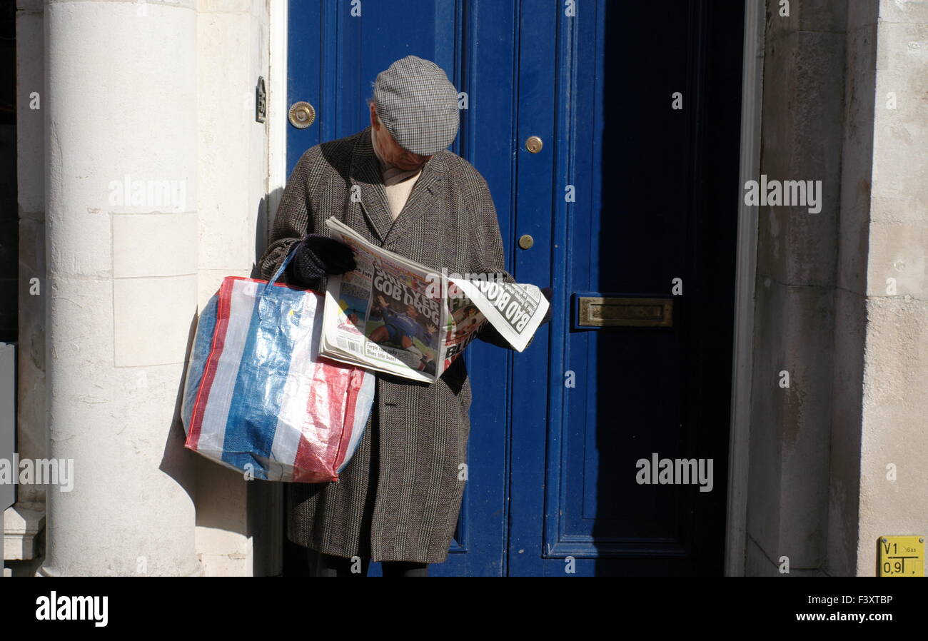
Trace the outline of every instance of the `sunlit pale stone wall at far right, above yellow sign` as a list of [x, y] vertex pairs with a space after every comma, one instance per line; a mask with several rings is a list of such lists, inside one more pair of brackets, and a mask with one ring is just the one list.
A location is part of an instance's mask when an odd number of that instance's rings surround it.
[[928, 2], [881, 0], [861, 31], [876, 82], [853, 571], [872, 576], [880, 536], [928, 535]]

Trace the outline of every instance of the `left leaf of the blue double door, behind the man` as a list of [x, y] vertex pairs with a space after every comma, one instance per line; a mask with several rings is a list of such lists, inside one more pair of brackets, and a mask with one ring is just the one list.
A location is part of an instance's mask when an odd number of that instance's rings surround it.
[[[499, 3], [432, 0], [360, 6], [356, 17], [350, 2], [290, 0], [288, 100], [313, 104], [316, 122], [303, 130], [289, 128], [288, 171], [306, 148], [355, 134], [370, 123], [366, 98], [377, 74], [394, 60], [409, 54], [431, 59], [459, 92], [467, 93], [468, 109], [461, 111], [450, 150], [470, 160], [487, 180], [509, 243], [514, 7], [500, 11]], [[510, 258], [511, 248], [505, 250]], [[465, 358], [475, 399], [468, 482], [451, 553], [431, 572], [498, 576], [506, 572], [510, 357], [478, 341]], [[287, 547], [290, 556], [301, 557]], [[380, 564], [372, 563], [370, 574], [379, 573]]]

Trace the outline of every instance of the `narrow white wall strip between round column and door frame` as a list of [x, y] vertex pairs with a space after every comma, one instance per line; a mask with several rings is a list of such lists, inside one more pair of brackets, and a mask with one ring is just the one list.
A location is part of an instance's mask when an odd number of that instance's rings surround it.
[[[266, 245], [266, 126], [255, 85], [268, 86], [264, 0], [199, 0], [197, 144], [200, 308], [225, 276], [257, 276]], [[207, 575], [251, 575], [255, 532], [248, 483], [205, 459], [197, 467], [197, 551]], [[255, 481], [261, 482], [261, 481]], [[260, 564], [259, 564], [260, 565]]]

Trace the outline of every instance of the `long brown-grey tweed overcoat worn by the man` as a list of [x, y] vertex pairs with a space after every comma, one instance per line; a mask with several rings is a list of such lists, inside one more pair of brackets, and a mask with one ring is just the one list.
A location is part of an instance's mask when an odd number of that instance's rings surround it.
[[[303, 153], [277, 209], [262, 276], [273, 276], [306, 234], [329, 236], [323, 223], [335, 216], [371, 243], [436, 271], [514, 282], [504, 269], [490, 190], [470, 162], [447, 150], [432, 156], [394, 222], [370, 133], [368, 126]], [[325, 279], [314, 286], [324, 287]], [[509, 347], [492, 327], [478, 338]], [[287, 484], [290, 541], [339, 557], [447, 558], [470, 432], [465, 356], [432, 384], [377, 374], [364, 438], [340, 481]]]

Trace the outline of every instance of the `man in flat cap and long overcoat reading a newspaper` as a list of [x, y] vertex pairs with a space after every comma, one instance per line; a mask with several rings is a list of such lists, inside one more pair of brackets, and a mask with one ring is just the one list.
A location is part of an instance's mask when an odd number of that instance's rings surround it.
[[[297, 162], [261, 259], [264, 278], [290, 251], [290, 284], [321, 290], [326, 276], [353, 269], [351, 250], [323, 224], [336, 216], [436, 272], [514, 282], [486, 181], [445, 148], [458, 133], [458, 92], [445, 72], [407, 56], [380, 72], [368, 102], [369, 127]], [[478, 337], [509, 347], [489, 324]], [[384, 574], [427, 576], [455, 532], [470, 431], [464, 359], [431, 385], [378, 374], [376, 389], [341, 481], [287, 488], [288, 538], [316, 550], [317, 576], [366, 576], [370, 560], [382, 561]]]

